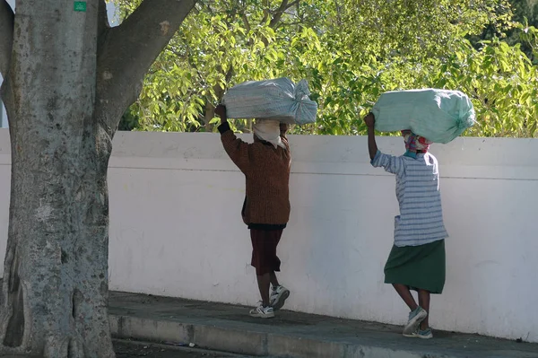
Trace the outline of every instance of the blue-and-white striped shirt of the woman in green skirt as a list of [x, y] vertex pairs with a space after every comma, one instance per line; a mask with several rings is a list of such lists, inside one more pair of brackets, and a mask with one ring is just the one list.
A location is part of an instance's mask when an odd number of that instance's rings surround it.
[[395, 246], [418, 246], [448, 237], [443, 223], [437, 159], [430, 153], [395, 157], [377, 151], [371, 164], [396, 175], [400, 214]]

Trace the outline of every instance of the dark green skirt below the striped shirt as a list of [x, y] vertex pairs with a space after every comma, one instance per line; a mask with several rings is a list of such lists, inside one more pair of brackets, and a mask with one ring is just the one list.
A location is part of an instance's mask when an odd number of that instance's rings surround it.
[[419, 246], [393, 246], [385, 265], [386, 284], [442, 293], [445, 286], [445, 240]]

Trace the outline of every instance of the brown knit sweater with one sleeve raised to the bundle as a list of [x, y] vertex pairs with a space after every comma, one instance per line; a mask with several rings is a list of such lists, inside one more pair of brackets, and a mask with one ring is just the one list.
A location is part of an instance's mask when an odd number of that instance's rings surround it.
[[281, 125], [284, 149], [264, 141], [247, 144], [234, 135], [228, 122], [219, 126], [224, 150], [245, 174], [247, 193], [241, 214], [247, 224], [280, 225], [290, 219], [291, 154], [287, 129]]

